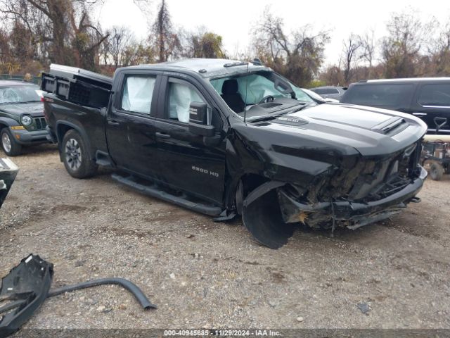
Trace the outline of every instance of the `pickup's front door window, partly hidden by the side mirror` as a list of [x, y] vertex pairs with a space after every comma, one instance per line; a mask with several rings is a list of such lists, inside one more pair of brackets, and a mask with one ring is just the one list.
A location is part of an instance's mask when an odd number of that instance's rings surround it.
[[191, 102], [205, 102], [205, 100], [200, 96], [197, 89], [190, 84], [169, 80], [168, 118], [188, 123]]

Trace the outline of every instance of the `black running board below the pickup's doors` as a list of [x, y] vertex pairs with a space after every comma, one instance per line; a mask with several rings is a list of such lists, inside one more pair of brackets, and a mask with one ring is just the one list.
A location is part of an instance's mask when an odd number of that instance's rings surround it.
[[116, 180], [117, 182], [125, 184], [128, 187], [136, 189], [139, 192], [142, 192], [143, 194], [156, 197], [158, 199], [162, 199], [162, 201], [170, 202], [176, 204], [177, 206], [183, 206], [184, 208], [191, 209], [198, 213], [205, 213], [206, 215], [218, 216], [222, 212], [221, 208], [219, 208], [218, 206], [212, 206], [189, 201], [185, 195], [174, 196], [172, 194], [169, 194], [168, 192], [162, 191], [155, 184], [146, 185], [136, 182], [133, 180], [134, 178], [133, 176], [124, 177], [122, 175], [114, 173], [113, 175], [111, 175], [111, 177], [113, 177], [113, 180]]

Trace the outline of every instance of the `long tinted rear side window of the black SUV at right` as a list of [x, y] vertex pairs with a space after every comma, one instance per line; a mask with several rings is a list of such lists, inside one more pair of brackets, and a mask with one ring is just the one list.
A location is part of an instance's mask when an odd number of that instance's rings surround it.
[[411, 100], [413, 84], [363, 84], [347, 89], [341, 102], [361, 106], [397, 107]]

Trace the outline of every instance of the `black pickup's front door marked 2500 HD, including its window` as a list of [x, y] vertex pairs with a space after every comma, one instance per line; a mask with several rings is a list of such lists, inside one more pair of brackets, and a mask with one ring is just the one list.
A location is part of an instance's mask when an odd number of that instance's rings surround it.
[[[205, 145], [209, 142], [188, 129], [189, 105], [193, 101], [209, 105], [207, 92], [195, 87], [193, 82], [167, 76], [162, 78], [160, 90], [158, 119], [155, 120], [160, 181], [221, 204], [225, 177], [224, 139]], [[217, 118], [221, 126], [220, 116]]]

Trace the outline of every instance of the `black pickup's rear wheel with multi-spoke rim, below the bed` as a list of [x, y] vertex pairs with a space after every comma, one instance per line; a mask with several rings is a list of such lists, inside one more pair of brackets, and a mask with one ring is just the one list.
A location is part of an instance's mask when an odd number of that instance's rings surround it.
[[76, 130], [65, 133], [60, 146], [65, 170], [75, 178], [87, 178], [96, 174], [97, 165], [89, 157], [86, 142]]

